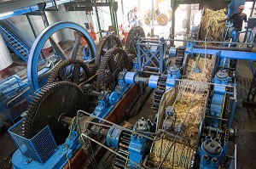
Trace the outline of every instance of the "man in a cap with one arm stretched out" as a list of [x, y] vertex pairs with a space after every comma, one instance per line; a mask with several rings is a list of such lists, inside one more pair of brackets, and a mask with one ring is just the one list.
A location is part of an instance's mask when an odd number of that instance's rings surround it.
[[[239, 33], [238, 32], [241, 31], [242, 21], [244, 20], [245, 22], [247, 22], [247, 14], [242, 13], [243, 9], [244, 9], [244, 5], [240, 5], [238, 7], [236, 14], [232, 14], [230, 17], [228, 17], [224, 20], [218, 20], [218, 23], [224, 22], [226, 20], [234, 20], [233, 26], [230, 27], [230, 30], [229, 30], [229, 37], [230, 38], [233, 37], [233, 42], [239, 42]], [[233, 31], [236, 31], [236, 37], [234, 37], [232, 35]]]

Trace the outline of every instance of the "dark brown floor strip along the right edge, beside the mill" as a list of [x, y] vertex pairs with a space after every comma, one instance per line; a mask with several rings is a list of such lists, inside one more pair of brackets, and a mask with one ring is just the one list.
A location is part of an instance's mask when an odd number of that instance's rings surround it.
[[[253, 68], [256, 63], [253, 62]], [[245, 109], [241, 101], [247, 96], [253, 75], [246, 60], [238, 61], [238, 84], [237, 84], [237, 104], [236, 115], [233, 126], [236, 127], [238, 138], [237, 144], [237, 168], [253, 169], [256, 168], [256, 109]]]

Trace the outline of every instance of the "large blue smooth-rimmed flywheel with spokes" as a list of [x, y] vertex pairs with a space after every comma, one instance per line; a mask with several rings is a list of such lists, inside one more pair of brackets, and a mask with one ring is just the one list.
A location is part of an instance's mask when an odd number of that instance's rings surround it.
[[[74, 31], [77, 34], [77, 37], [75, 38], [75, 41], [73, 43], [73, 48], [71, 55], [67, 56], [67, 54], [64, 53], [63, 49], [58, 45], [57, 42], [51, 37], [54, 33], [61, 31], [63, 29], [69, 29]], [[84, 40], [87, 42], [88, 47], [90, 48], [90, 53], [92, 58], [96, 55], [96, 45], [93, 41], [92, 37], [90, 36], [90, 33], [84, 29], [83, 26], [73, 23], [73, 22], [56, 22], [52, 25], [49, 25], [44, 29], [44, 31], [41, 31], [39, 33], [38, 37], [32, 44], [31, 51], [29, 53], [29, 58], [27, 60], [27, 78], [29, 82], [29, 86], [32, 88], [32, 91], [38, 91], [38, 89], [41, 87], [39, 85], [39, 81], [42, 77], [39, 76], [39, 58], [42, 49], [44, 48], [45, 42], [49, 41], [51, 43], [51, 46], [53, 47], [54, 53], [56, 56], [59, 56], [61, 60], [67, 60], [68, 58], [76, 59], [77, 54], [79, 51], [79, 40], [80, 37], [84, 37]]]

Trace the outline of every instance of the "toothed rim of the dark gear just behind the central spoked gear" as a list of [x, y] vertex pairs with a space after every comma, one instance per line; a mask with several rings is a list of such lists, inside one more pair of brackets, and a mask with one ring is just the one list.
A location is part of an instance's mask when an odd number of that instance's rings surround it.
[[[109, 41], [109, 40], [113, 40], [117, 46], [119, 48], [122, 47], [122, 42], [120, 41], [119, 37], [115, 36], [115, 35], [110, 35], [106, 38], [102, 38], [99, 42], [99, 44], [97, 45], [96, 47], [96, 65], [97, 66], [100, 66], [101, 65], [101, 62], [102, 62], [102, 56], [104, 56], [104, 54], [106, 54], [105, 51], [103, 51], [103, 48], [104, 46], [106, 45], [106, 43]], [[112, 48], [112, 47], [111, 47]], [[109, 48], [108, 50], [110, 50], [111, 48]], [[108, 52], [108, 51], [107, 51]]]

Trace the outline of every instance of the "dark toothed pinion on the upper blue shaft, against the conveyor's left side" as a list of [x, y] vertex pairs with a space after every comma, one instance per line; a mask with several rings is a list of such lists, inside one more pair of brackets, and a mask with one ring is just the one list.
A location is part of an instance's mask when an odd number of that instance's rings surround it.
[[157, 89], [154, 92], [154, 103], [152, 109], [158, 111], [160, 107], [160, 101], [163, 94], [166, 92], [166, 80], [167, 76], [160, 76], [157, 84]]

